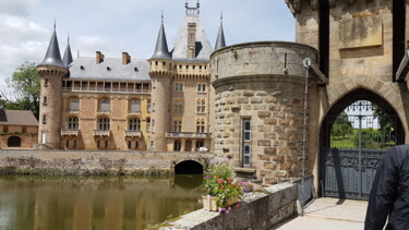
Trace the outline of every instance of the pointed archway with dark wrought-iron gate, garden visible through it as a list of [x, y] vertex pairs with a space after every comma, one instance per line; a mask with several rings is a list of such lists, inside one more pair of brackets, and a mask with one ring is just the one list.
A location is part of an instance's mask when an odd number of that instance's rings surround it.
[[378, 161], [404, 141], [401, 121], [385, 99], [364, 88], [349, 93], [321, 126], [322, 195], [368, 199]]

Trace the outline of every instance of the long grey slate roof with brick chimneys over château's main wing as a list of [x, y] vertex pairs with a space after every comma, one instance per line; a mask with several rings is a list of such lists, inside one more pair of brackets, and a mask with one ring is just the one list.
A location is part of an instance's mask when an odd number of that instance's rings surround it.
[[72, 80], [151, 82], [145, 59], [122, 64], [121, 58], [105, 58], [97, 64], [95, 58], [77, 58], [69, 70], [69, 78]]

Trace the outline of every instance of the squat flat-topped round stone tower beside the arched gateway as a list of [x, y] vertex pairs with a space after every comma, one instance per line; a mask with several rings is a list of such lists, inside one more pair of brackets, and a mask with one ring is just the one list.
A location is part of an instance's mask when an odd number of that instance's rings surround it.
[[239, 171], [253, 173], [266, 184], [299, 177], [303, 60], [315, 63], [316, 56], [312, 47], [282, 41], [240, 44], [215, 51], [210, 57], [215, 153], [232, 157]]

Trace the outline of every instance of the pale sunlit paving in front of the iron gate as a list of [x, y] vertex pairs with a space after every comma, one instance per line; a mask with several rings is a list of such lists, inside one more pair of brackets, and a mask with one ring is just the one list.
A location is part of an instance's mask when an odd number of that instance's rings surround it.
[[304, 216], [297, 217], [272, 230], [361, 230], [365, 219], [368, 202], [318, 198], [309, 205]]

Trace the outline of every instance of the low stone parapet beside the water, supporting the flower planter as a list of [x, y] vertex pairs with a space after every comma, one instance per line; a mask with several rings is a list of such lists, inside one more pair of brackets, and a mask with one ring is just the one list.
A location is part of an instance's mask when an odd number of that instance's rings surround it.
[[158, 225], [161, 230], [225, 230], [225, 229], [272, 229], [297, 215], [298, 187], [294, 184], [281, 183], [244, 195], [239, 208], [229, 214], [200, 209], [187, 214], [178, 220]]

